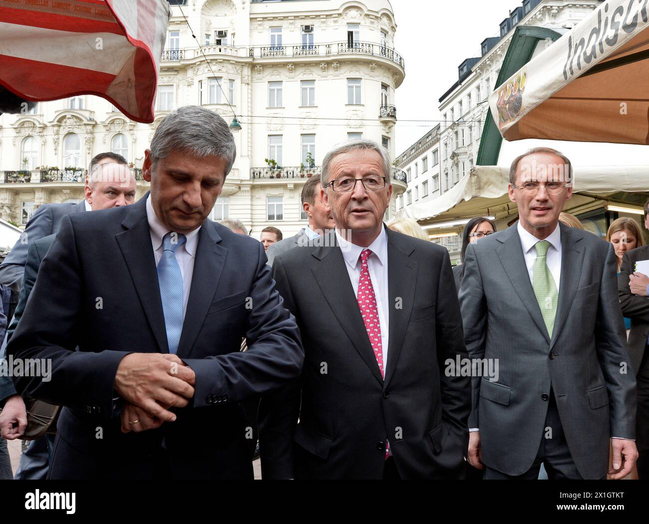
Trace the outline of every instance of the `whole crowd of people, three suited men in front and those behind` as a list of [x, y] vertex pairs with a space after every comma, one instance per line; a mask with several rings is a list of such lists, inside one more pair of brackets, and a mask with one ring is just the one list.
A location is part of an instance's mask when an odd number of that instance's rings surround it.
[[384, 224], [377, 143], [327, 152], [286, 239], [208, 219], [235, 156], [219, 115], [178, 108], [143, 198], [99, 155], [83, 202], [27, 224], [0, 283], [3, 352], [31, 364], [0, 377], [0, 429], [29, 434], [34, 402], [55, 422], [16, 478], [252, 479], [257, 455], [263, 479], [649, 478], [649, 247], [632, 219], [607, 242], [562, 212], [567, 157], [515, 158], [519, 219], [470, 220], [452, 267]]

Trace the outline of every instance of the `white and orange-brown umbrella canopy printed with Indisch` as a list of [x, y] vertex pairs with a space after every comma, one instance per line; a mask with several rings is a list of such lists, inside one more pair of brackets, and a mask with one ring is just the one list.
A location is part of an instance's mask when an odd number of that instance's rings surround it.
[[489, 97], [507, 140], [649, 143], [649, 3], [607, 0]]

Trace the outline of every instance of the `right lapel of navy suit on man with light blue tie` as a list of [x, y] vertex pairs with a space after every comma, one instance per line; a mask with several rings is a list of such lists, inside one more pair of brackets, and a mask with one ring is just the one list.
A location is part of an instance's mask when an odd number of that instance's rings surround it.
[[189, 357], [210, 304], [214, 300], [228, 253], [227, 248], [218, 244], [220, 241], [221, 237], [214, 224], [210, 220], [205, 220], [199, 231], [190, 298], [178, 343], [178, 357]]

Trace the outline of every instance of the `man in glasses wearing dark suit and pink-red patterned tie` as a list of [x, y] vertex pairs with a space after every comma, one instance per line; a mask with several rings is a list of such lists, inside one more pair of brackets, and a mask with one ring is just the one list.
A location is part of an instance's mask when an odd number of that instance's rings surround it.
[[299, 380], [262, 397], [264, 479], [464, 475], [471, 384], [446, 372], [467, 357], [450, 260], [384, 226], [390, 165], [370, 140], [328, 152], [336, 229], [275, 258], [305, 361]]

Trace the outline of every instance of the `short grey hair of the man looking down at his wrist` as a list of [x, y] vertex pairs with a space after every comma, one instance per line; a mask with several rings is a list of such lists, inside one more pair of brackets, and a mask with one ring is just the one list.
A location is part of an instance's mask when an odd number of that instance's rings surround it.
[[237, 156], [234, 137], [226, 121], [201, 106], [182, 106], [164, 117], [156, 128], [150, 149], [152, 167], [171, 151], [181, 150], [199, 158], [225, 158], [226, 175]]

